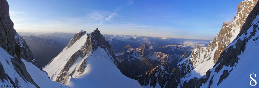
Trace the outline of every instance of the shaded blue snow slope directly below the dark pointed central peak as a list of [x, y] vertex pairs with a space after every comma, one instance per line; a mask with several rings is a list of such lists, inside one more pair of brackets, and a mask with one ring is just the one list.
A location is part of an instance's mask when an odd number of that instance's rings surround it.
[[123, 75], [114, 65], [103, 48], [98, 47], [86, 60], [83, 75], [71, 78], [68, 86], [88, 88], [138, 88], [138, 81]]

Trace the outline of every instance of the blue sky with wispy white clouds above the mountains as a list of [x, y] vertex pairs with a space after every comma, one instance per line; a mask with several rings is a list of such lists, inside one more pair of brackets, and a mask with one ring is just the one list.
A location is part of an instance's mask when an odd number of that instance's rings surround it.
[[242, 0], [7, 0], [17, 32], [213, 40]]

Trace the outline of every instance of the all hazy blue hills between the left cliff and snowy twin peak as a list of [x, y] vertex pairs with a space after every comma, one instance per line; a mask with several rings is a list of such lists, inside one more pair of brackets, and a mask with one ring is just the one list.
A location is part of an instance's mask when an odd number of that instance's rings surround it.
[[22, 32], [22, 34], [23, 36], [21, 37], [25, 39], [27, 45], [32, 50], [32, 54], [38, 61], [37, 64], [39, 67], [45, 66], [51, 61], [67, 45], [69, 36], [71, 35], [71, 33], [48, 33], [60, 34], [68, 38], [65, 39], [57, 36], [38, 35], [39, 33]]

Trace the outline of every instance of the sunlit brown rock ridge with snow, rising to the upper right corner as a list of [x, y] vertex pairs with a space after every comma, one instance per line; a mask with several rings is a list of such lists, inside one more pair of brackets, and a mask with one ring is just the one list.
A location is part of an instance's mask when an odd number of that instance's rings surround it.
[[[167, 87], [182, 86], [184, 81], [189, 81], [193, 77], [202, 77], [206, 71], [213, 67], [218, 61], [220, 54], [238, 35], [241, 26], [246, 21], [246, 17], [255, 6], [257, 0], [245, 0], [238, 5], [237, 14], [231, 22], [224, 22], [220, 32], [206, 48], [196, 47], [190, 56], [177, 65], [174, 76], [170, 78]], [[204, 67], [204, 65], [206, 67]]]

